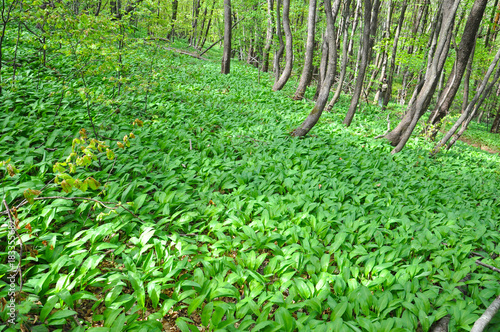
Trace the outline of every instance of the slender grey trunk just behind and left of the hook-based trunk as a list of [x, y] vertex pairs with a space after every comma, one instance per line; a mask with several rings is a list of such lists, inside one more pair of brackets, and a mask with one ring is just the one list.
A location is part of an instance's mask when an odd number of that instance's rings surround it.
[[304, 59], [304, 68], [300, 77], [299, 86], [295, 91], [294, 100], [304, 98], [306, 88], [311, 82], [312, 61], [314, 53], [314, 35], [316, 33], [316, 0], [309, 0], [309, 14], [307, 16], [307, 42], [306, 54]]

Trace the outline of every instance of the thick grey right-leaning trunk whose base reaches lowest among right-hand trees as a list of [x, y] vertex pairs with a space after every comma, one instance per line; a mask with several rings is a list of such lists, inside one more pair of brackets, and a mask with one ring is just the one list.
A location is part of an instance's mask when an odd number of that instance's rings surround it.
[[[444, 0], [441, 7], [442, 20], [438, 20], [440, 28], [436, 28], [431, 51], [427, 63], [424, 83], [414, 102], [408, 106], [408, 112], [401, 122], [391, 132], [385, 135], [395, 148], [391, 153], [403, 149], [410, 138], [418, 120], [429, 107], [431, 98], [436, 90], [437, 81], [443, 70], [451, 42], [453, 23], [460, 0]], [[437, 40], [439, 38], [439, 40]], [[434, 51], [435, 50], [435, 51]]]

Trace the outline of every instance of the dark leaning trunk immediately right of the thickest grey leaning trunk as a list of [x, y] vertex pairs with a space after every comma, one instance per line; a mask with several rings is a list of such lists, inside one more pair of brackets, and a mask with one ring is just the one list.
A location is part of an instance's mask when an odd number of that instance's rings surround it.
[[486, 9], [487, 2], [488, 0], [476, 0], [472, 6], [462, 34], [462, 40], [458, 46], [455, 65], [453, 66], [453, 70], [448, 78], [448, 82], [446, 83], [444, 90], [436, 102], [436, 107], [427, 121], [428, 127], [434, 126], [431, 137], [434, 137], [439, 130], [438, 124], [441, 122], [441, 119], [448, 114], [448, 110], [455, 99], [458, 88], [460, 87], [462, 77], [469, 62], [469, 57], [474, 49], [477, 31], [479, 30], [479, 25], [484, 14], [484, 10]]

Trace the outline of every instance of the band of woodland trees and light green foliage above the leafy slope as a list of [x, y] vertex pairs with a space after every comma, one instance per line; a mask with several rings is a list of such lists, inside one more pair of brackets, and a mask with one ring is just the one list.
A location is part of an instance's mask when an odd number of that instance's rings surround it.
[[[332, 8], [335, 12], [335, 5]], [[33, 42], [45, 66], [57, 58], [61, 43], [72, 45], [68, 56], [79, 58], [82, 65], [92, 63], [97, 54], [93, 50], [100, 50], [109, 68], [115, 69], [110, 77], [116, 79], [120, 93], [130, 79], [124, 48], [141, 39], [185, 38], [200, 55], [223, 41], [222, 72], [229, 72], [230, 58], [247, 61], [262, 72], [272, 64], [273, 90], [291, 84], [290, 77], [300, 77], [294, 98], [316, 99], [328, 82], [331, 53], [324, 9], [324, 3], [313, 0], [233, 0], [231, 4], [227, 0], [60, 1], [42, 5], [31, 0], [6, 1], [1, 12], [0, 92], [16, 81], [16, 68], [25, 57], [16, 53], [19, 43]], [[403, 148], [421, 119], [427, 121], [426, 132], [432, 139], [446, 115], [465, 110], [479, 88], [498, 48], [499, 11], [498, 1], [486, 0], [342, 2], [333, 13], [338, 27], [333, 36], [335, 68], [340, 67], [327, 110], [334, 107], [341, 92], [351, 95], [344, 119], [349, 125], [360, 100], [381, 100], [384, 109], [393, 105], [389, 111], [399, 108], [404, 114], [385, 135], [395, 146], [393, 152]], [[5, 70], [6, 66], [10, 69]], [[80, 74], [89, 73], [81, 70]], [[498, 86], [493, 86], [474, 113], [479, 121], [494, 122], [492, 132], [499, 123], [493, 121], [499, 104], [497, 91]], [[433, 110], [431, 116], [424, 116], [429, 110]]]

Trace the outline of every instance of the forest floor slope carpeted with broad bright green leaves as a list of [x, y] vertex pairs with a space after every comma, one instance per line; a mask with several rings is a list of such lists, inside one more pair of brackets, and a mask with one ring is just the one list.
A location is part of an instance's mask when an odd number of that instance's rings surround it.
[[292, 138], [312, 107], [293, 82], [274, 93], [237, 61], [221, 75], [216, 50], [128, 52], [120, 84], [61, 57], [23, 64], [0, 99], [23, 241], [0, 331], [427, 331], [447, 315], [468, 331], [498, 295], [477, 262], [500, 266], [499, 156], [430, 158], [421, 137], [391, 155], [378, 108], [341, 124], [347, 97]]

